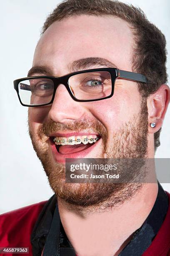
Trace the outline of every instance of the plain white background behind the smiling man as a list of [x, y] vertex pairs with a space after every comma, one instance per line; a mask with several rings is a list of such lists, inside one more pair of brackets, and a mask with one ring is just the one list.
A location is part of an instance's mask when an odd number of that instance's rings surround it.
[[[28, 108], [20, 105], [13, 80], [26, 77], [46, 16], [58, 0], [5, 0], [0, 8], [0, 213], [53, 195], [28, 136]], [[123, 1], [139, 6], [160, 28], [170, 53], [170, 1]], [[168, 74], [170, 58], [168, 55]], [[161, 132], [157, 158], [170, 158], [170, 108]], [[170, 184], [162, 184], [170, 192]]]

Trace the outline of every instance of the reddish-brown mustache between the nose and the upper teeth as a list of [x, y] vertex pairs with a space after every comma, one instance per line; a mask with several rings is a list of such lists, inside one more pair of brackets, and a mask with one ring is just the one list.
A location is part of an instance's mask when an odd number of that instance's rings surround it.
[[48, 121], [45, 123], [42, 123], [40, 125], [37, 135], [40, 139], [43, 138], [43, 136], [49, 137], [51, 133], [57, 133], [57, 132], [69, 132], [69, 131], [75, 131], [80, 132], [84, 131], [86, 132], [95, 132], [98, 133], [104, 141], [107, 140], [107, 130], [102, 123], [100, 123], [98, 120], [89, 119], [89, 118], [81, 118], [74, 120], [72, 122], [68, 123], [56, 123], [55, 121]]

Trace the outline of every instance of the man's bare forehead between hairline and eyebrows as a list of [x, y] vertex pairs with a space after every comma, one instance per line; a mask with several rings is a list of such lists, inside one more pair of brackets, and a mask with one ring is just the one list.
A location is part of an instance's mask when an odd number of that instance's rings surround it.
[[124, 20], [113, 16], [73, 16], [47, 28], [35, 49], [33, 66], [48, 65], [56, 76], [62, 76], [73, 61], [100, 57], [131, 71], [132, 51], [133, 35]]

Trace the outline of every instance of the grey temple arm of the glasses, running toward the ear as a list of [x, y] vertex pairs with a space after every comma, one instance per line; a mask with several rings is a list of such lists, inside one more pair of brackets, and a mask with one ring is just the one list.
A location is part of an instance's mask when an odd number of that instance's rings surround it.
[[130, 72], [130, 71], [117, 69], [117, 76], [120, 78], [125, 78], [133, 81], [144, 82], [144, 83], [147, 82], [147, 79], [144, 75]]

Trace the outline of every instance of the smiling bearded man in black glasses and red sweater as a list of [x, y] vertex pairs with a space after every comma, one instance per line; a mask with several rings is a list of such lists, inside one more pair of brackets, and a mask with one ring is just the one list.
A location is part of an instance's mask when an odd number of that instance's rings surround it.
[[14, 86], [55, 195], [1, 215], [1, 247], [50, 256], [170, 253], [170, 195], [157, 182], [136, 182], [148, 175], [140, 166], [120, 170], [128, 183], [65, 182], [66, 158], [154, 158], [170, 101], [165, 62], [163, 34], [133, 6], [67, 0], [50, 14], [29, 78]]

